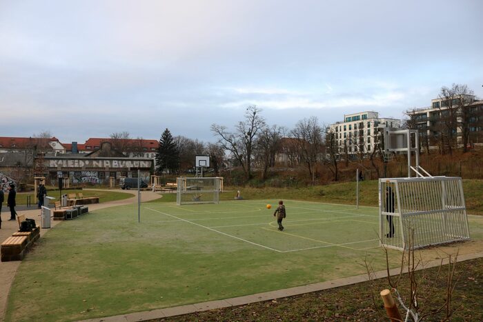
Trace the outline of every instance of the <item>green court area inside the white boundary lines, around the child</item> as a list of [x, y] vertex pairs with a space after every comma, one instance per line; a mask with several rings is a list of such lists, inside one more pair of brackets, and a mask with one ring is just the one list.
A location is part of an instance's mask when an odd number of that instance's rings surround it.
[[[213, 238], [235, 239], [240, 247], [272, 252], [304, 252], [318, 248], [362, 251], [379, 245], [374, 208], [356, 210], [348, 205], [285, 201], [288, 216], [283, 221], [285, 230], [279, 232], [274, 210], [266, 209], [268, 203], [270, 201], [257, 200], [168, 207], [157, 204], [145, 209], [164, 219], [155, 223], [176, 223], [183, 226], [178, 229], [193, 233], [208, 230]], [[273, 208], [276, 206], [274, 203]]]

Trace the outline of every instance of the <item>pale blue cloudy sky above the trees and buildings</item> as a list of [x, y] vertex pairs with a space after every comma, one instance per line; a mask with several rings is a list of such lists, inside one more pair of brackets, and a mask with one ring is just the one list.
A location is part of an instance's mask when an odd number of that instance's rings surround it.
[[442, 86], [483, 99], [480, 0], [0, 0], [0, 136], [83, 143], [168, 128], [215, 142], [257, 105], [402, 118]]

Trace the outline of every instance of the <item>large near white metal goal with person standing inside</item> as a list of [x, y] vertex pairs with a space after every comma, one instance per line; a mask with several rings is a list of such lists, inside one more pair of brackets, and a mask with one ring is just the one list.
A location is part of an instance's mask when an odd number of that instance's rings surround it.
[[462, 179], [379, 179], [380, 244], [404, 250], [470, 239]]

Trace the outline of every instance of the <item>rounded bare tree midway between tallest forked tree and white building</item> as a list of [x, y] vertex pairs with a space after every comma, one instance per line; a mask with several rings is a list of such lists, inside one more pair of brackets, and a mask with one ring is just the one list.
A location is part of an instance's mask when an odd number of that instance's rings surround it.
[[307, 165], [308, 174], [311, 176], [312, 183], [315, 183], [317, 161], [322, 154], [323, 145], [322, 128], [317, 117], [298, 121], [291, 134], [298, 144], [300, 159]]

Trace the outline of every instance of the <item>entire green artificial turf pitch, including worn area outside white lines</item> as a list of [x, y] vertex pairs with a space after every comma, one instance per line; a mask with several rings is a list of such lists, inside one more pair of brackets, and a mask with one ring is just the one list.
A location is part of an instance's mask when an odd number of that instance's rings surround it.
[[[6, 319], [92, 319], [365, 274], [366, 259], [386, 267], [377, 208], [287, 200], [279, 232], [276, 204], [143, 203], [140, 223], [137, 205], [64, 221], [21, 263]], [[482, 227], [471, 220], [472, 238]]]

